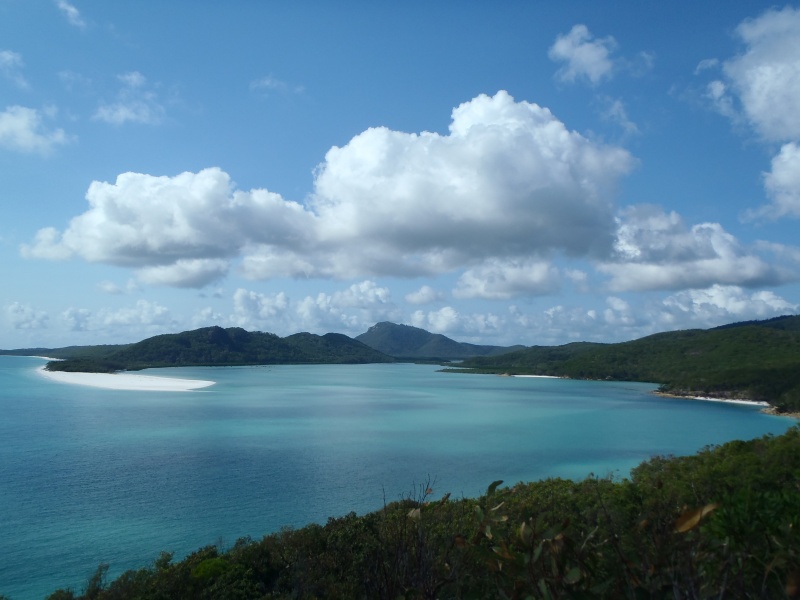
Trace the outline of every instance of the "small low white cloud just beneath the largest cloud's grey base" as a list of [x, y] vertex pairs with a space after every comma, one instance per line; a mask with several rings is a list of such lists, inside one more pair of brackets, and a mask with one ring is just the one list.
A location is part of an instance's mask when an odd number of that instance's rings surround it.
[[491, 300], [538, 296], [554, 292], [560, 282], [558, 269], [547, 261], [490, 259], [465, 271], [453, 290], [453, 296]]

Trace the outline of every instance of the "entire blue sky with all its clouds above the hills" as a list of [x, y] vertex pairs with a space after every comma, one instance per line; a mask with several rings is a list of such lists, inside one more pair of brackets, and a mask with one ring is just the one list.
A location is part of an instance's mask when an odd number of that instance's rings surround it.
[[0, 348], [800, 310], [800, 4], [0, 0]]

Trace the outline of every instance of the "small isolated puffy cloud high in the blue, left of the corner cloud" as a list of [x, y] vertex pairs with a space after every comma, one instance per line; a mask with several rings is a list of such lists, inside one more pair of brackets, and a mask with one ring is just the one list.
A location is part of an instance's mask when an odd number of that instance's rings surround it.
[[597, 85], [603, 79], [610, 79], [613, 74], [611, 53], [616, 46], [613, 37], [598, 39], [586, 25], [575, 25], [569, 33], [556, 38], [548, 56], [553, 61], [566, 63], [556, 73], [561, 81], [572, 83], [585, 78], [592, 85]]

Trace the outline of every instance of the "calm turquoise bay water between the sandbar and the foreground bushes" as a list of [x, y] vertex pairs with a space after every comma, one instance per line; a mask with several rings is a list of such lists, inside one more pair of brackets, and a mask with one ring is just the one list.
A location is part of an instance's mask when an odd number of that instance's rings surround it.
[[0, 356], [0, 594], [81, 592], [283, 526], [412, 494], [628, 476], [654, 455], [780, 434], [792, 419], [665, 399], [646, 383], [437, 372], [430, 365], [176, 368], [192, 392], [57, 383]]

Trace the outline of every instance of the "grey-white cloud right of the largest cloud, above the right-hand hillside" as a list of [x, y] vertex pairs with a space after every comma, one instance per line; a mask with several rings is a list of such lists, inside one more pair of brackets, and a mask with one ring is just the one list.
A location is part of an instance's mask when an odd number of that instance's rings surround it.
[[622, 211], [616, 260], [598, 265], [614, 291], [748, 287], [780, 283], [787, 273], [745, 248], [719, 223], [687, 227], [675, 213], [654, 206]]

